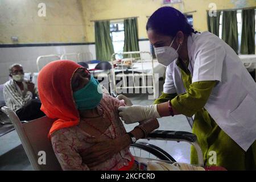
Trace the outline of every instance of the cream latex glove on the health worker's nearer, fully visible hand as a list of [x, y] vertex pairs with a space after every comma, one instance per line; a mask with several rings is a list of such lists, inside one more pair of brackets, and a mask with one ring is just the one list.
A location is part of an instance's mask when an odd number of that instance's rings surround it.
[[121, 106], [118, 107], [119, 116], [125, 121], [126, 124], [140, 122], [145, 119], [160, 118], [158, 110], [155, 105], [149, 106]]

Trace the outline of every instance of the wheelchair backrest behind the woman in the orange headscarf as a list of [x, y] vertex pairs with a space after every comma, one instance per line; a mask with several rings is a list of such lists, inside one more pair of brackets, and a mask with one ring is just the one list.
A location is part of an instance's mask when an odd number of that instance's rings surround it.
[[[9, 107], [3, 106], [1, 110], [13, 122], [32, 167], [37, 171], [61, 170], [51, 142], [47, 137], [55, 119], [42, 117], [22, 124], [18, 116]], [[46, 157], [46, 164], [42, 164], [44, 156]], [[39, 164], [39, 162], [41, 163]]]

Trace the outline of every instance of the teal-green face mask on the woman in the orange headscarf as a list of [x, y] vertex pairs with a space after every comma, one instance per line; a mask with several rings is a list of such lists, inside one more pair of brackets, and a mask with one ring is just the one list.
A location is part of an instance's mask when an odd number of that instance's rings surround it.
[[102, 98], [102, 89], [98, 80], [92, 75], [90, 81], [84, 88], [73, 93], [76, 107], [79, 110], [93, 109], [100, 104]]

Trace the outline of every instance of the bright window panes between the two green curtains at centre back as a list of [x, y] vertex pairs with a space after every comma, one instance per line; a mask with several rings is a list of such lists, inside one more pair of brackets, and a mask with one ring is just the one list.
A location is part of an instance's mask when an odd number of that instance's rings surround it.
[[[125, 30], [123, 22], [110, 23], [110, 36], [114, 47], [114, 52], [123, 52], [125, 44]], [[120, 55], [116, 55], [115, 59], [122, 59]]]

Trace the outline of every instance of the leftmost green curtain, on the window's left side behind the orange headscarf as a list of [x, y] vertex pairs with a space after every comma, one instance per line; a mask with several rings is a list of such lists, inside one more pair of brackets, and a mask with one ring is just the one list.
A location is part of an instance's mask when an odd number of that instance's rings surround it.
[[97, 60], [110, 61], [114, 53], [114, 47], [110, 37], [110, 23], [109, 21], [95, 22], [94, 28]]

